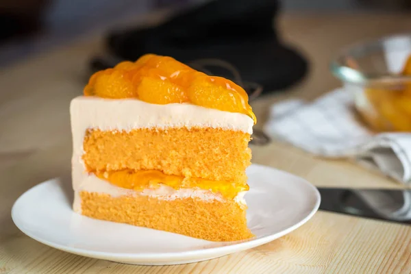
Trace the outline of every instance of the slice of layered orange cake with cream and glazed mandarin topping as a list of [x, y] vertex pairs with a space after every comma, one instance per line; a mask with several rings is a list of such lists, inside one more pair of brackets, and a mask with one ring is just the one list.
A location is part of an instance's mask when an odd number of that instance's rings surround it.
[[99, 71], [71, 101], [73, 208], [206, 240], [250, 238], [255, 122], [240, 86], [173, 58]]

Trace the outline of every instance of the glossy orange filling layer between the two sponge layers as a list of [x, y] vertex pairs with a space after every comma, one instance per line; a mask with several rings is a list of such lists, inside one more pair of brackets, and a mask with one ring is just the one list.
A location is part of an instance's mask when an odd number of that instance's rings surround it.
[[235, 184], [229, 182], [211, 181], [199, 178], [184, 178], [176, 175], [166, 175], [161, 171], [105, 171], [95, 173], [100, 179], [105, 179], [121, 188], [144, 190], [158, 188], [162, 184], [175, 190], [180, 188], [201, 188], [214, 193], [220, 192], [227, 199], [234, 199], [238, 192], [249, 190], [247, 184]]

